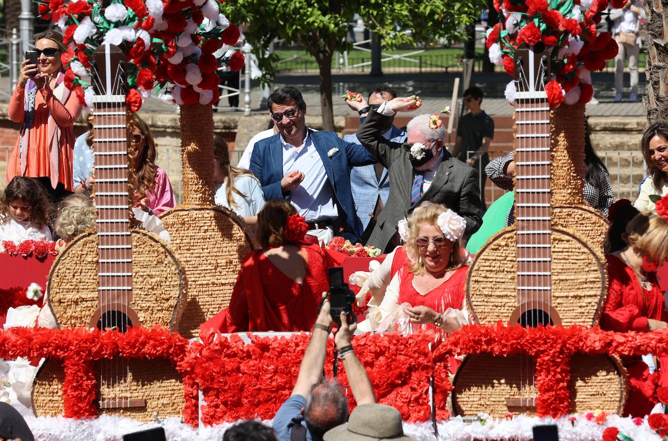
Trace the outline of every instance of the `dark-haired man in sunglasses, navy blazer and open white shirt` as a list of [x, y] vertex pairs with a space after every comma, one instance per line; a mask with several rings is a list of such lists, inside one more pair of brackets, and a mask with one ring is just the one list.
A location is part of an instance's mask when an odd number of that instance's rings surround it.
[[374, 164], [363, 146], [345, 142], [335, 132], [306, 126], [306, 103], [292, 86], [275, 90], [267, 102], [279, 133], [255, 144], [251, 171], [265, 199], [289, 200], [321, 242], [334, 235], [359, 241], [362, 225], [355, 214], [350, 167]]

